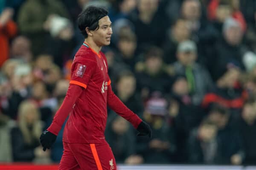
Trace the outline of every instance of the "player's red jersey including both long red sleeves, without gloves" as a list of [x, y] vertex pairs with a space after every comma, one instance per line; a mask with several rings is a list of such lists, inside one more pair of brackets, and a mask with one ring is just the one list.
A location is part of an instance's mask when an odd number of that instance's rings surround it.
[[120, 101], [110, 84], [105, 55], [102, 52], [97, 54], [83, 44], [73, 60], [67, 95], [47, 130], [58, 135], [70, 113], [63, 142], [103, 143], [107, 105], [137, 128], [142, 120]]

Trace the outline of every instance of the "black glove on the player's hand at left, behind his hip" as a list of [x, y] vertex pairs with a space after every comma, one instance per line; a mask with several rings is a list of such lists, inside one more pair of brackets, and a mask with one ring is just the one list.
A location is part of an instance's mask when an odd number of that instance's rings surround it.
[[55, 142], [57, 136], [48, 130], [45, 130], [40, 136], [40, 142], [43, 146], [43, 150], [50, 149], [52, 144]]

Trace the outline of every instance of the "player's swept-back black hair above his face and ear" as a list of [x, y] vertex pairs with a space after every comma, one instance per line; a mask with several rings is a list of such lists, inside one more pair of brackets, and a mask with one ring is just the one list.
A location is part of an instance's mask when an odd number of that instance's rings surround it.
[[99, 29], [99, 20], [108, 15], [108, 11], [102, 7], [88, 6], [77, 19], [78, 27], [85, 38], [88, 37], [86, 27], [89, 30]]

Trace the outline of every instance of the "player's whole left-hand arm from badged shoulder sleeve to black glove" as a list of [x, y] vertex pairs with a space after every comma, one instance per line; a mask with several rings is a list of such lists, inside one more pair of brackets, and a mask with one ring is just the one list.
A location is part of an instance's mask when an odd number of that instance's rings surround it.
[[72, 110], [76, 100], [81, 95], [83, 89], [87, 88], [87, 84], [91, 75], [96, 68], [96, 62], [93, 59], [84, 57], [83, 59], [77, 59], [73, 62], [71, 68], [71, 81], [68, 88], [65, 99], [55, 114], [52, 124], [46, 131], [41, 134], [40, 142], [43, 149], [49, 149], [56, 140], [58, 132], [61, 130], [61, 126], [67, 119], [68, 114]]

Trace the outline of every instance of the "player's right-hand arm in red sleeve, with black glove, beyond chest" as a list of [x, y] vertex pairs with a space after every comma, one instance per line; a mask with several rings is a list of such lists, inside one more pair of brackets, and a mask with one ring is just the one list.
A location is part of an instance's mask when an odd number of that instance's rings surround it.
[[110, 83], [108, 83], [108, 106], [117, 114], [131, 122], [135, 129], [139, 131], [138, 136], [148, 135], [151, 138], [152, 132], [149, 125], [143, 122], [137, 114], [128, 109], [123, 102], [114, 94]]

